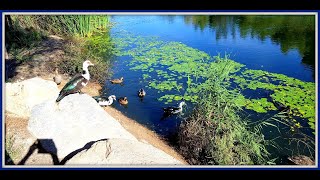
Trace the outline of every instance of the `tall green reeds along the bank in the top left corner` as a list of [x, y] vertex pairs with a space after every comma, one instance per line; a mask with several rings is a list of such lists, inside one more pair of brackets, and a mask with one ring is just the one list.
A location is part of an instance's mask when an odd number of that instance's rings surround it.
[[108, 29], [106, 15], [6, 15], [6, 47], [8, 51], [30, 48], [49, 34], [91, 37]]

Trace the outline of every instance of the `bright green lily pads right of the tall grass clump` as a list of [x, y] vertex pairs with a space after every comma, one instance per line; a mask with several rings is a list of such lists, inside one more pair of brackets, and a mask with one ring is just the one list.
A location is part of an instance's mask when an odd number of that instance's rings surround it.
[[[295, 78], [287, 77], [283, 74], [269, 73], [262, 70], [245, 70], [239, 76], [232, 76], [234, 82], [239, 84], [242, 89], [257, 88], [271, 90], [270, 97], [275, 104], [281, 104], [289, 109], [289, 114], [299, 116], [309, 120], [309, 124], [315, 121], [315, 84], [312, 82], [303, 82]], [[266, 112], [274, 110], [269, 102], [257, 103], [257, 100], [243, 103], [243, 100], [237, 100], [241, 105], [257, 112]], [[261, 100], [260, 100], [261, 101]], [[264, 100], [265, 101], [265, 100]], [[261, 106], [261, 103], [264, 106]], [[265, 104], [267, 103], [267, 104]], [[248, 106], [248, 104], [250, 104]], [[314, 124], [311, 125], [314, 129]]]

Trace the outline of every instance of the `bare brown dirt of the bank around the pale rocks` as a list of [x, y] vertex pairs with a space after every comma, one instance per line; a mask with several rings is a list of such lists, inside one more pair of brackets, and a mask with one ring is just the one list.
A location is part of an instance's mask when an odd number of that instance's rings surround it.
[[[38, 47], [30, 49], [28, 50], [28, 52], [24, 52], [24, 54], [33, 54], [33, 56], [36, 58], [22, 63], [17, 63], [15, 59], [6, 59], [6, 80], [10, 82], [20, 82], [32, 77], [40, 77], [45, 80], [53, 81], [53, 77], [55, 76], [55, 74], [53, 72], [54, 66], [51, 65], [56, 64], [56, 59], [65, 58], [64, 51], [61, 48], [64, 42], [65, 41], [57, 36], [49, 36], [49, 39], [42, 42]], [[50, 47], [52, 48], [52, 50], [49, 50]], [[39, 53], [44, 49], [47, 49], [48, 51], [46, 53]], [[12, 55], [9, 54], [9, 57], [12, 57]], [[61, 75], [63, 78], [61, 84], [58, 85], [59, 90], [61, 90], [70, 79], [70, 76], [68, 74]], [[83, 88], [82, 91], [90, 96], [97, 96], [100, 94], [101, 89], [102, 86], [99, 83], [90, 82], [85, 88]], [[175, 159], [181, 161], [183, 164], [188, 164], [173, 147], [168, 145], [168, 143], [160, 136], [158, 136], [155, 132], [124, 116], [120, 111], [112, 107], [105, 107], [104, 110], [114, 119], [119, 121], [119, 123], [139, 141], [147, 142], [150, 145], [174, 157]], [[21, 147], [12, 147], [12, 142], [10, 142], [11, 140], [6, 139], [6, 142], [8, 142], [8, 146], [11, 145], [11, 150], [9, 150], [11, 151], [10, 153], [15, 154], [15, 157], [11, 157], [13, 161], [12, 163], [16, 164], [18, 161], [20, 161], [22, 157], [21, 155], [19, 155], [19, 153], [24, 152], [22, 154], [25, 154], [26, 152], [28, 152], [28, 148], [30, 147], [32, 142], [35, 141], [35, 138], [32, 137], [32, 135], [28, 132], [27, 125], [27, 118], [19, 117], [14, 114], [5, 112], [6, 138], [14, 137], [16, 143], [24, 144]], [[52, 165], [53, 161], [50, 155], [41, 154], [40, 152], [36, 151], [32, 154], [32, 156], [30, 156], [26, 164]]]

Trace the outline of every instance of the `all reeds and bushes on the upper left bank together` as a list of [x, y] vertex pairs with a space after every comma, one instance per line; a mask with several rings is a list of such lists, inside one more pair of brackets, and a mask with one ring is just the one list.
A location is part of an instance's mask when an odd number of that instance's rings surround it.
[[6, 47], [14, 59], [30, 59], [28, 52], [39, 47], [48, 35], [65, 39], [65, 56], [48, 62], [49, 71], [56, 66], [60, 73], [73, 76], [82, 72], [82, 63], [89, 59], [92, 81], [104, 83], [111, 74], [113, 43], [107, 15], [10, 15], [6, 16]]

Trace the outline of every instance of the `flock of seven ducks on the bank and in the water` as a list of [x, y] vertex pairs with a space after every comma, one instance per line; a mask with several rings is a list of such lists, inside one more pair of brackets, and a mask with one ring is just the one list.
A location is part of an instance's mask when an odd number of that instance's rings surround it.
[[[56, 102], [58, 103], [59, 101], [61, 101], [65, 96], [69, 95], [69, 94], [74, 94], [74, 93], [82, 93], [81, 89], [83, 87], [85, 87], [89, 80], [90, 80], [90, 74], [89, 74], [89, 70], [88, 67], [89, 66], [94, 66], [93, 63], [91, 63], [89, 60], [86, 60], [83, 62], [82, 64], [82, 70], [83, 73], [82, 74], [76, 74], [74, 77], [72, 77], [69, 82], [61, 89], [58, 98], [56, 99]], [[56, 82], [57, 80], [61, 79], [61, 77], [57, 76], [57, 70], [56, 70], [56, 76], [54, 77], [54, 81]], [[112, 79], [110, 80], [110, 82], [112, 84], [121, 84], [123, 83], [124, 78], [121, 77], [119, 79]], [[61, 80], [60, 80], [61, 82]], [[60, 84], [59, 82], [59, 84]], [[58, 84], [58, 82], [56, 82]], [[143, 98], [146, 95], [146, 91], [141, 88], [138, 92], [137, 92], [138, 97]], [[95, 96], [93, 97], [97, 103], [100, 106], [110, 106], [111, 104], [113, 104], [114, 101], [116, 101], [116, 96], [115, 95], [110, 95], [107, 99], [99, 97], [99, 96]], [[118, 99], [119, 103], [121, 105], [127, 105], [128, 104], [128, 98], [126, 96], [124, 97], [120, 97]], [[182, 112], [182, 106], [186, 105], [186, 103], [184, 101], [180, 102], [178, 107], [174, 107], [174, 106], [169, 106], [169, 107], [164, 107], [163, 112], [165, 115], [171, 115], [171, 114], [178, 114], [180, 112]]]

